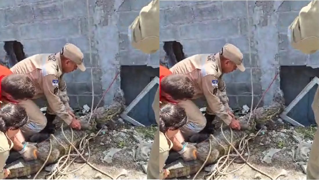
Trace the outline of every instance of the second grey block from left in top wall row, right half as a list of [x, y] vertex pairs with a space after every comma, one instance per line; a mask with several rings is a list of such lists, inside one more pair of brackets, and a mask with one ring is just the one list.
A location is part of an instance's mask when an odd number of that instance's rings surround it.
[[200, 3], [192, 6], [195, 21], [212, 20], [222, 18], [222, 4], [220, 1], [212, 3]]

